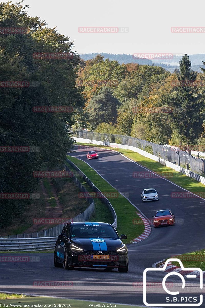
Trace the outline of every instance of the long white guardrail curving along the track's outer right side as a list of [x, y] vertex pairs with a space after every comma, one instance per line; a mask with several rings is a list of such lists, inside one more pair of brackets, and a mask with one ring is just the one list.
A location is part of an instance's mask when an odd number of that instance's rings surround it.
[[201, 182], [202, 184], [205, 185], [205, 177], [201, 176], [199, 174], [196, 174], [188, 169], [185, 169], [183, 167], [180, 167], [176, 164], [172, 164], [170, 161], [164, 160], [158, 156], [155, 156], [153, 154], [150, 154], [148, 152], [145, 152], [144, 150], [141, 150], [139, 148], [133, 147], [131, 145], [124, 145], [124, 144], [118, 144], [118, 143], [106, 143], [103, 141], [98, 141], [98, 140], [91, 140], [91, 139], [84, 139], [84, 138], [78, 138], [78, 137], [73, 137], [73, 139], [75, 139], [77, 142], [82, 142], [82, 143], [90, 143], [90, 145], [92, 144], [101, 144], [101, 145], [105, 145], [105, 146], [111, 146], [111, 147], [115, 147], [115, 148], [120, 148], [120, 149], [128, 149], [128, 150], [132, 150], [133, 152], [137, 152], [145, 157], [151, 158], [152, 160], [157, 161], [158, 163], [170, 167], [178, 172], [181, 172], [183, 174], [185, 174], [186, 176], [190, 176], [193, 179], [195, 179], [198, 182]]

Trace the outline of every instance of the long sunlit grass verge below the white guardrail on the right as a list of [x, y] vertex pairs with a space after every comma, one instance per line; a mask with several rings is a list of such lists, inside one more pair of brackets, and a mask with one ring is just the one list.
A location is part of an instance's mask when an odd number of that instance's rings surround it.
[[[132, 159], [133, 161], [139, 163], [140, 165], [148, 168], [153, 172], [164, 173], [164, 177], [167, 178], [169, 181], [181, 186], [182, 188], [189, 190], [191, 193], [202, 193], [202, 194], [204, 193], [205, 196], [205, 185], [203, 185], [202, 183], [199, 183], [189, 176], [185, 176], [184, 174], [177, 172], [172, 168], [164, 166], [156, 162], [155, 160], [152, 160], [148, 157], [144, 157], [136, 152], [126, 149], [106, 147], [104, 145], [99, 145], [99, 144], [87, 144], [87, 143], [77, 143], [77, 144], [86, 146], [96, 146], [98, 148], [107, 148], [110, 150], [115, 150], [117, 152], [120, 152], [124, 156], [127, 156], [128, 158]], [[166, 173], [169, 173], [169, 175], [166, 176]]]

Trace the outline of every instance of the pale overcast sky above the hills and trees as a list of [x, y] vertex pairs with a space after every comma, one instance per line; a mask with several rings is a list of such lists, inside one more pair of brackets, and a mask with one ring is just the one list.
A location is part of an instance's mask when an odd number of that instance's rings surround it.
[[[16, 1], [12, 1], [15, 3]], [[205, 53], [204, 33], [172, 33], [171, 27], [204, 27], [204, 1], [24, 0], [38, 16], [74, 41], [79, 54], [107, 52]], [[128, 27], [127, 33], [79, 33], [79, 27]]]

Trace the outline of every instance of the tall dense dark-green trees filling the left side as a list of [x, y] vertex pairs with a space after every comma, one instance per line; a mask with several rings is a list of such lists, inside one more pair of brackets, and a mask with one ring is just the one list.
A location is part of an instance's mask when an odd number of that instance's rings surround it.
[[[1, 146], [34, 146], [39, 151], [0, 152], [2, 193], [35, 192], [39, 179], [34, 171], [63, 167], [73, 144], [66, 125], [73, 124], [76, 110], [84, 105], [75, 84], [80, 58], [71, 53], [73, 43], [37, 17], [29, 17], [27, 8], [22, 1], [0, 2], [2, 28], [30, 29], [26, 34], [0, 36], [1, 80], [37, 81], [35, 87], [0, 88], [0, 136]], [[71, 53], [71, 57], [35, 59], [35, 52]], [[34, 106], [71, 106], [73, 112], [36, 113]], [[0, 227], [19, 217], [29, 202], [1, 199]]]

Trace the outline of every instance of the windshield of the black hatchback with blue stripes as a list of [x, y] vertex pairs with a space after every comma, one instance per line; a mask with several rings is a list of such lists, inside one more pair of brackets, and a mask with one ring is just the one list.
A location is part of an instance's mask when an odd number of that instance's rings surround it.
[[72, 225], [70, 237], [80, 238], [119, 238], [110, 225]]

